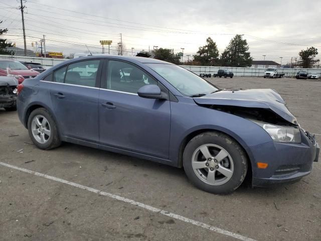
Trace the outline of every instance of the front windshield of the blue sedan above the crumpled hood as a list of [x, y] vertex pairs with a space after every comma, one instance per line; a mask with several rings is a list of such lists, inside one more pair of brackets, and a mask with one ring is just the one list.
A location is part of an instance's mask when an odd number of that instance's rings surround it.
[[218, 90], [214, 85], [180, 66], [172, 64], [146, 64], [146, 66], [186, 96], [209, 94]]

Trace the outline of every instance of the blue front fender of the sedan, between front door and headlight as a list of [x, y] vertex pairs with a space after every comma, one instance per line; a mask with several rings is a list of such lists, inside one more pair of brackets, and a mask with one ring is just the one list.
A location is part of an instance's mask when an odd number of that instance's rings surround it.
[[[181, 101], [181, 99], [183, 101]], [[244, 150], [271, 141], [271, 137], [258, 125], [240, 116], [197, 105], [180, 98], [171, 102], [170, 160], [179, 161], [179, 150], [186, 138], [204, 130], [223, 132], [234, 138]]]

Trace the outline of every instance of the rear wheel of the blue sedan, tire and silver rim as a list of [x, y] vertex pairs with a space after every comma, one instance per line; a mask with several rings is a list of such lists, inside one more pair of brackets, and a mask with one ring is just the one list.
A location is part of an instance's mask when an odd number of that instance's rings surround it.
[[[33, 131], [36, 134], [33, 134]], [[45, 108], [37, 108], [31, 112], [28, 118], [28, 132], [30, 139], [39, 149], [50, 150], [61, 144], [54, 118]]]

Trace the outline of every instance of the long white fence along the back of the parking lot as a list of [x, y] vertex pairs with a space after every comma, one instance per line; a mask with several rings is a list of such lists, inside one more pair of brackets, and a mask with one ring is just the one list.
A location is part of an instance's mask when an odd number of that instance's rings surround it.
[[[30, 56], [11, 56], [11, 55], [0, 55], [0, 58], [11, 58], [18, 61], [28, 61], [36, 62], [44, 65], [46, 68], [59, 64], [67, 59], [53, 59], [53, 58], [39, 58], [39, 57], [30, 57]], [[257, 77], [263, 76], [265, 69], [264, 68], [236, 68], [236, 67], [217, 67], [217, 66], [189, 66], [181, 65], [183, 68], [186, 68], [196, 74], [216, 74], [219, 69], [228, 69], [234, 73], [234, 76], [240, 77]], [[299, 70], [306, 71], [308, 73], [317, 73], [318, 76], [321, 76], [321, 69], [290, 69], [290, 68], [279, 68], [278, 73], [285, 73], [286, 77], [295, 76]]]

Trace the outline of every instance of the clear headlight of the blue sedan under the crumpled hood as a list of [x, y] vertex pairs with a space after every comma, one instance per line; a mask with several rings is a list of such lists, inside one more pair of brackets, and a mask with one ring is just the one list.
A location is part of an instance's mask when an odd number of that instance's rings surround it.
[[254, 121], [261, 126], [274, 142], [301, 143], [300, 129], [296, 127], [277, 126], [269, 123]]

